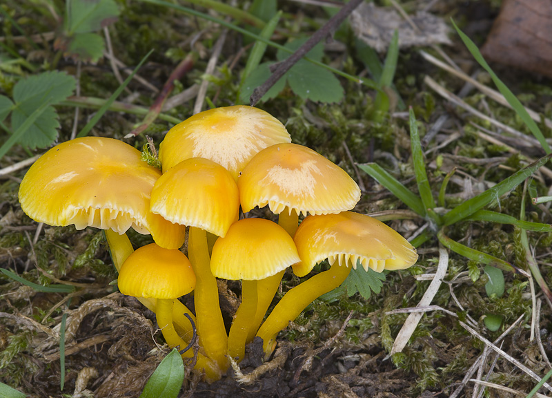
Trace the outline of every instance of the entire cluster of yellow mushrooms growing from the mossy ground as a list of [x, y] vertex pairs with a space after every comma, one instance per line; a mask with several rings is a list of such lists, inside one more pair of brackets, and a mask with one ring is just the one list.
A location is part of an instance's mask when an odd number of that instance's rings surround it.
[[[229, 357], [242, 360], [255, 336], [268, 358], [277, 334], [357, 265], [382, 272], [417, 260], [396, 231], [351, 211], [360, 190], [345, 171], [292, 144], [284, 125], [257, 108], [215, 108], [184, 120], [166, 134], [159, 160], [163, 173], [117, 140], [64, 142], [32, 165], [19, 200], [34, 220], [105, 229], [119, 290], [155, 312], [183, 357], [193, 356], [183, 349], [195, 324], [195, 367], [208, 381], [226, 372]], [[247, 214], [267, 205], [277, 223], [239, 219], [240, 207]], [[134, 252], [130, 227], [155, 243]], [[186, 227], [189, 260], [179, 250]], [[264, 320], [286, 269], [306, 276], [326, 259], [330, 269], [286, 292]], [[217, 278], [242, 281], [228, 333]], [[178, 300], [194, 288], [195, 315]]]

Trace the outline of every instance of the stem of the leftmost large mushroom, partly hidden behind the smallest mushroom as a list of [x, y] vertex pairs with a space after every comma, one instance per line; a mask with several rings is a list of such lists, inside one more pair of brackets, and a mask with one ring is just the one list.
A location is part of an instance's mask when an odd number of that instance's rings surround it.
[[[121, 265], [123, 265], [126, 258], [134, 252], [134, 249], [132, 249], [132, 243], [130, 243], [130, 240], [126, 234], [119, 235], [112, 229], [105, 229], [105, 232], [113, 265], [115, 265], [115, 269], [119, 272]], [[144, 305], [144, 307], [148, 308], [148, 310], [156, 312], [157, 303], [155, 299], [144, 299], [144, 297], [138, 297], [137, 299], [142, 305]], [[184, 314], [190, 315], [192, 320], [195, 322], [195, 315], [188, 310], [188, 307], [178, 300], [175, 301], [175, 305], [172, 307], [172, 316], [175, 328], [177, 328], [177, 332], [185, 339], [191, 339], [193, 336], [192, 324], [188, 321], [188, 319], [186, 319]]]

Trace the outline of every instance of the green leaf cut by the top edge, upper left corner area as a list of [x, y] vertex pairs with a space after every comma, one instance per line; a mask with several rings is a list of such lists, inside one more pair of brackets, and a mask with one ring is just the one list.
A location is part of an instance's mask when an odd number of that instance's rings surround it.
[[114, 0], [68, 0], [66, 33], [95, 32], [115, 22], [118, 15]]

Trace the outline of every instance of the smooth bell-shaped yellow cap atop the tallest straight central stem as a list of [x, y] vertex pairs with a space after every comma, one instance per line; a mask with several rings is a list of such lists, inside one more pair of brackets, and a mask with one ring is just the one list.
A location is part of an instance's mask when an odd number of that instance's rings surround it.
[[225, 236], [239, 216], [237, 185], [220, 164], [190, 158], [157, 180], [151, 193], [151, 211], [170, 222]]

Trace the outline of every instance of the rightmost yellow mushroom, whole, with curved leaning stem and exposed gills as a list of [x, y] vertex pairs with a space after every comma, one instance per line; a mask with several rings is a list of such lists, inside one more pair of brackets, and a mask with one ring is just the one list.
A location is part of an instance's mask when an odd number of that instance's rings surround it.
[[294, 240], [302, 260], [292, 265], [295, 274], [308, 274], [326, 258], [331, 267], [293, 287], [274, 307], [257, 332], [263, 339], [266, 357], [273, 352], [280, 330], [317, 297], [339, 287], [357, 264], [382, 272], [411, 267], [418, 257], [414, 247], [396, 231], [375, 218], [352, 211], [308, 216], [299, 225]]

